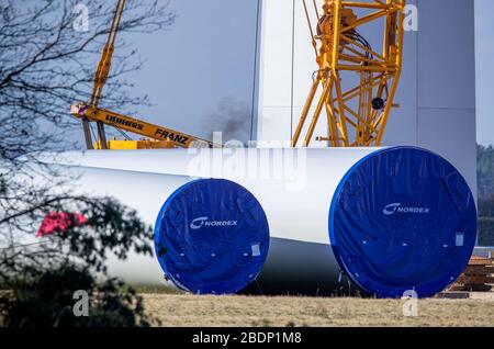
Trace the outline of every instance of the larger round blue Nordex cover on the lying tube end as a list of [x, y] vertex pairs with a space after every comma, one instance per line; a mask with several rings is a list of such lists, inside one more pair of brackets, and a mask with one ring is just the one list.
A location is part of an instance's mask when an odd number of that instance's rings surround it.
[[378, 297], [435, 295], [464, 270], [476, 240], [472, 192], [430, 151], [383, 149], [341, 180], [329, 238], [343, 271]]

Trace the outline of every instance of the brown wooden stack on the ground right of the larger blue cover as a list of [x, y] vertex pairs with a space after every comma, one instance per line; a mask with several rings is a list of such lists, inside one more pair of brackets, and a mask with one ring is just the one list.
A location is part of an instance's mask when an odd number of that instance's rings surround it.
[[472, 257], [463, 274], [449, 291], [494, 291], [494, 258]]

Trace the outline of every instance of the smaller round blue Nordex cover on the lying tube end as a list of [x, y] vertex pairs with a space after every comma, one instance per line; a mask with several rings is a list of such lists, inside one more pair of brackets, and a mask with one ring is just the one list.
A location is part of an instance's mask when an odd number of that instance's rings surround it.
[[155, 249], [165, 273], [180, 289], [194, 294], [236, 293], [263, 267], [268, 221], [242, 185], [193, 181], [165, 202], [155, 225]]

